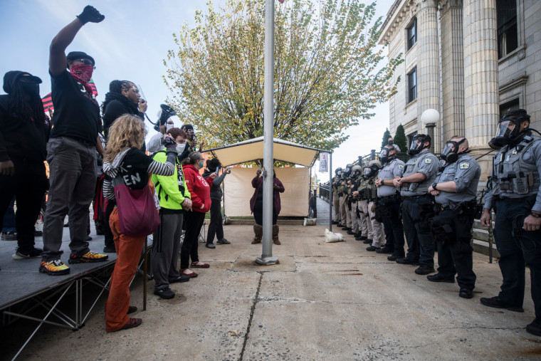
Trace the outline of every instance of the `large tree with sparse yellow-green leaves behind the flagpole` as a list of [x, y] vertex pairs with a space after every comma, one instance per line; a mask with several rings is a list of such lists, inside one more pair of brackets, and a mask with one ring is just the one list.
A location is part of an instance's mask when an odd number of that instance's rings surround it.
[[[376, 48], [381, 18], [362, 0], [291, 0], [275, 13], [274, 137], [332, 150], [343, 131], [396, 93]], [[265, 0], [227, 1], [173, 34], [164, 65], [168, 99], [209, 146], [263, 135]]]

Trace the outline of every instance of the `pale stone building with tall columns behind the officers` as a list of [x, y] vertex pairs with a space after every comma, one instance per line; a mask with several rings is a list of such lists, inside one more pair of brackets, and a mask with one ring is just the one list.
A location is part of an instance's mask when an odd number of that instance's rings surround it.
[[[436, 152], [466, 135], [473, 156], [490, 151], [500, 115], [524, 108], [541, 130], [541, 1], [396, 0], [379, 38], [388, 58], [401, 54], [398, 93], [389, 101], [389, 130], [408, 140], [426, 133], [424, 110], [440, 113]], [[491, 155], [480, 159], [483, 178]]]

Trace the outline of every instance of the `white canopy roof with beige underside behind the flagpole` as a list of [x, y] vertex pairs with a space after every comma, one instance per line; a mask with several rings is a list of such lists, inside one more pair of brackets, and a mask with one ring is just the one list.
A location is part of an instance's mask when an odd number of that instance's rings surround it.
[[[274, 159], [300, 164], [305, 167], [311, 167], [320, 152], [330, 153], [328, 150], [306, 147], [305, 145], [278, 138], [273, 138], [273, 143]], [[252, 162], [256, 159], [263, 159], [263, 137], [245, 140], [225, 147], [212, 148], [203, 152], [211, 152], [214, 157], [220, 160], [223, 167]]]

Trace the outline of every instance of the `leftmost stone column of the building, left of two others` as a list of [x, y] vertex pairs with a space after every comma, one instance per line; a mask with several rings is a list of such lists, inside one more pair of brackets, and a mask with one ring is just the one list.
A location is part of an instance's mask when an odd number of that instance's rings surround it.
[[[427, 109], [440, 111], [440, 73], [438, 51], [438, 7], [436, 0], [417, 3], [417, 125], [422, 129], [421, 114]], [[423, 131], [426, 134], [426, 129]], [[436, 132], [437, 133], [437, 132]], [[438, 135], [432, 140], [438, 145]], [[436, 152], [439, 150], [436, 146]]]

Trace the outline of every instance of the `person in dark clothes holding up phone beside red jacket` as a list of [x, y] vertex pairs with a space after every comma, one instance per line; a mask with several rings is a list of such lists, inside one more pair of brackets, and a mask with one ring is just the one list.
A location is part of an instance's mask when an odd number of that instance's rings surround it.
[[[218, 158], [208, 159], [206, 161], [206, 169], [203, 173], [204, 179], [208, 179], [212, 174], [218, 174], [221, 164]], [[214, 246], [214, 236], [218, 239], [216, 244], [231, 244], [230, 241], [224, 238], [224, 221], [221, 216], [221, 182], [224, 181], [226, 174], [231, 173], [231, 169], [226, 169], [219, 177], [214, 179], [211, 187], [211, 223], [209, 231], [206, 233], [206, 248], [216, 248]]]

